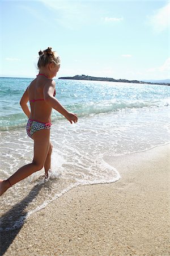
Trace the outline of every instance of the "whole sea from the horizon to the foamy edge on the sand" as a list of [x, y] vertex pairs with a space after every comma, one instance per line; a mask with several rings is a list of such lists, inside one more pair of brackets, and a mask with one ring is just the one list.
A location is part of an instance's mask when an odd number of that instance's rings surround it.
[[[0, 178], [32, 162], [33, 141], [19, 101], [32, 79], [0, 79]], [[71, 125], [52, 112], [52, 170], [15, 184], [0, 199], [1, 231], [19, 228], [30, 214], [78, 185], [113, 183], [119, 170], [105, 156], [130, 154], [169, 143], [170, 87], [56, 79], [56, 97], [78, 114]], [[29, 104], [28, 104], [29, 105]]]

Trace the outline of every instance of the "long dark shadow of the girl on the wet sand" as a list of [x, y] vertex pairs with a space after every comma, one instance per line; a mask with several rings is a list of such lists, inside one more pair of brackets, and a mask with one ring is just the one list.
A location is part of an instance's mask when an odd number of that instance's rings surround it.
[[[31, 203], [33, 199], [35, 199], [43, 185], [43, 183], [35, 185], [35, 187], [33, 187], [29, 192], [28, 196], [26, 196], [22, 201], [20, 201], [20, 203], [14, 205], [12, 209], [8, 210], [8, 212], [1, 217], [2, 230], [0, 232], [0, 255], [5, 254], [6, 250], [11, 245], [12, 241], [19, 233], [20, 229], [22, 229], [22, 226], [25, 222], [25, 218], [27, 216], [25, 208], [28, 206], [29, 203]], [[18, 225], [15, 227], [16, 223]], [[11, 226], [12, 229], [6, 230], [7, 226]]]

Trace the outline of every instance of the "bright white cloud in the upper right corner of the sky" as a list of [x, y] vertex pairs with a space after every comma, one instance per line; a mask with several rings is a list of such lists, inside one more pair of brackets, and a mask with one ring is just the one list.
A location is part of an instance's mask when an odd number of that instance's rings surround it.
[[164, 7], [155, 10], [154, 14], [148, 16], [149, 24], [152, 26], [155, 32], [160, 33], [166, 30], [170, 24], [170, 2]]

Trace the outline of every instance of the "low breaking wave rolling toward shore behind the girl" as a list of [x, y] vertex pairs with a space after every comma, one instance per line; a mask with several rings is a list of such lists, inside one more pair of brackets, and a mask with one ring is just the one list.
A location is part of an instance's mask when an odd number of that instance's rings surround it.
[[[66, 109], [70, 112], [78, 114], [78, 117], [84, 117], [94, 114], [104, 114], [110, 112], [118, 112], [124, 109], [154, 108], [167, 107], [170, 105], [170, 98], [157, 101], [146, 100], [105, 100], [99, 102], [83, 102], [80, 104], [66, 105]], [[5, 112], [3, 112], [5, 113]], [[10, 113], [8, 111], [8, 113]], [[64, 117], [56, 111], [52, 113], [52, 121], [63, 119]], [[16, 127], [24, 127], [27, 123], [27, 117], [23, 112], [15, 114], [6, 114], [0, 117], [0, 131], [15, 129]]]

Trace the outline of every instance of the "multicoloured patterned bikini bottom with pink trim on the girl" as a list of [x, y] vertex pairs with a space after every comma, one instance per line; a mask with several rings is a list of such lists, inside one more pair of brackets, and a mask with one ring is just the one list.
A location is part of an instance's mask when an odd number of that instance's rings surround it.
[[40, 131], [42, 129], [50, 129], [51, 125], [52, 125], [52, 123], [43, 123], [43, 122], [39, 122], [36, 120], [28, 119], [28, 123], [27, 123], [27, 127], [26, 127], [27, 135], [30, 138], [32, 138], [32, 135], [36, 131]]

